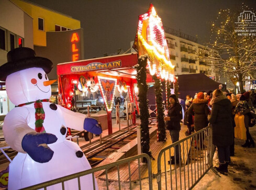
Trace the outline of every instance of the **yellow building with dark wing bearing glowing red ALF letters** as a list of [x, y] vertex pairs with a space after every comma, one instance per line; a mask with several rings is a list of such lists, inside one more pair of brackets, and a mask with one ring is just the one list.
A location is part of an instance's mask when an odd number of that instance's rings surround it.
[[57, 79], [58, 63], [84, 59], [83, 29], [79, 20], [25, 0], [10, 1], [33, 18], [34, 50], [37, 56], [53, 62], [48, 74], [50, 80]]

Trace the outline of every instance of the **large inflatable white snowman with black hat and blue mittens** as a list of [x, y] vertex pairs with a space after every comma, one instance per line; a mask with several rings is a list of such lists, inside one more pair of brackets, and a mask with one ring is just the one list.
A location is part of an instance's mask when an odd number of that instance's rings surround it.
[[[16, 48], [0, 66], [0, 80], [16, 105], [5, 117], [4, 137], [17, 156], [9, 164], [8, 189], [20, 189], [91, 169], [80, 147], [66, 140], [66, 127], [102, 133], [97, 120], [49, 103], [51, 86], [47, 74], [53, 64], [36, 57], [30, 48]], [[92, 175], [80, 177], [81, 189], [93, 189]], [[95, 180], [96, 182], [96, 180]], [[96, 189], [97, 189], [97, 184]], [[64, 182], [78, 189], [77, 178]], [[47, 189], [62, 189], [56, 184]]]

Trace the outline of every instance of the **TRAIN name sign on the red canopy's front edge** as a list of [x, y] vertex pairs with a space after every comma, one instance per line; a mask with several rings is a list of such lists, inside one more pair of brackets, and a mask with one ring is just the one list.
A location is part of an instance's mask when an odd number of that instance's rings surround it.
[[85, 66], [71, 66], [71, 72], [85, 72], [99, 69], [119, 68], [122, 65], [121, 60], [112, 61], [109, 63], [94, 62]]

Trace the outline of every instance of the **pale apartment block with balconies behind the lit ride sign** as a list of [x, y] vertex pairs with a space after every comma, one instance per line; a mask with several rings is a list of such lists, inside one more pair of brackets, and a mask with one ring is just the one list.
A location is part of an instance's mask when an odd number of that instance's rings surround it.
[[175, 75], [204, 73], [215, 81], [219, 81], [219, 73], [210, 66], [203, 57], [208, 57], [211, 49], [197, 43], [197, 38], [180, 31], [164, 27], [170, 60], [175, 65]]

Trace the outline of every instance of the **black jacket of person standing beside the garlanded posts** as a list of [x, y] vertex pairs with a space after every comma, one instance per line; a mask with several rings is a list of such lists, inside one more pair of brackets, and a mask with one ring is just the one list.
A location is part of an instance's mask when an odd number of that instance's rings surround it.
[[168, 117], [170, 117], [170, 121], [167, 121], [167, 129], [168, 130], [181, 130], [181, 120], [182, 116], [182, 107], [179, 103], [175, 103], [173, 106], [169, 106], [168, 108]]

